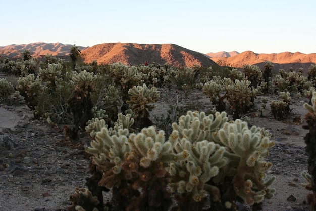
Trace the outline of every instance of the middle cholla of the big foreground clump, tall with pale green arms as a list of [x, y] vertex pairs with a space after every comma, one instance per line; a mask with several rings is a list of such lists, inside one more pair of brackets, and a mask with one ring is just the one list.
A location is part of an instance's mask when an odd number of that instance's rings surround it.
[[200, 202], [205, 201], [208, 194], [213, 202], [221, 200], [218, 187], [207, 182], [228, 163], [225, 147], [212, 142], [216, 131], [226, 121], [225, 112], [206, 116], [204, 112], [188, 111], [179, 118], [178, 124], [173, 123], [174, 131], [169, 141], [176, 155], [168, 168], [169, 187], [180, 194], [176, 197], [180, 207], [190, 210], [202, 207], [204, 204]]

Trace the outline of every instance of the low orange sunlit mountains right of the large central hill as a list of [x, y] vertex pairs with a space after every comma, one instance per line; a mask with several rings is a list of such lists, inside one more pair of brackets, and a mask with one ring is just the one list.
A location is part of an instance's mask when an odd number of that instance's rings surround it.
[[277, 72], [279, 69], [287, 71], [291, 67], [294, 70], [302, 67], [304, 68], [304, 72], [307, 72], [311, 64], [316, 64], [316, 53], [303, 54], [300, 52], [283, 52], [277, 54], [256, 54], [252, 51], [245, 51], [231, 57], [212, 57], [211, 59], [219, 65], [241, 68], [244, 64], [255, 64], [261, 69], [266, 61], [271, 61]]

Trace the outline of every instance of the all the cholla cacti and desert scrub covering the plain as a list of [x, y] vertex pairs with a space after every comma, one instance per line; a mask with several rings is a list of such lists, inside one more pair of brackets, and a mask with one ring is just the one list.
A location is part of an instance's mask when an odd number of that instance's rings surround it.
[[[255, 65], [172, 67], [169, 64], [128, 66], [83, 63], [76, 46], [71, 60], [46, 55], [43, 60], [23, 52], [23, 60], [2, 58], [0, 100], [24, 103], [50, 126], [64, 125], [59, 144], [82, 147], [90, 157], [91, 177], [85, 188], [69, 193], [69, 210], [236, 210], [247, 204], [260, 210], [274, 196], [267, 162], [275, 143], [265, 128], [247, 123], [247, 113], [261, 96], [258, 114], [267, 109], [267, 94], [276, 120], [291, 114], [291, 98], [310, 104], [306, 143], [314, 149], [315, 66], [272, 74]], [[16, 85], [16, 86], [14, 86]], [[161, 92], [182, 98], [192, 91], [208, 97], [207, 110], [170, 103], [168, 115], [153, 119]], [[315, 210], [314, 152], [309, 151], [306, 188]], [[112, 193], [111, 202], [103, 201]]]

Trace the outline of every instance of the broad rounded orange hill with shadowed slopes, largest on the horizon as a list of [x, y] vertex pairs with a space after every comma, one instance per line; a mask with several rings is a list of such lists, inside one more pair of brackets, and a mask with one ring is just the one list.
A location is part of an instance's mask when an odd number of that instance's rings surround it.
[[136, 43], [103, 43], [81, 51], [85, 62], [96, 60], [97, 63], [112, 64], [121, 62], [129, 65], [149, 63], [172, 66], [192, 67], [199, 64], [209, 67], [215, 64], [202, 53], [192, 51], [175, 44], [136, 44]]

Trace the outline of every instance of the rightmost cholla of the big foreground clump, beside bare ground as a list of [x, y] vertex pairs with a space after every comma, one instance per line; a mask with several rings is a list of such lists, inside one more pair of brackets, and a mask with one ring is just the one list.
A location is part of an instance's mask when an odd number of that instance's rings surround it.
[[274, 178], [264, 180], [265, 173], [272, 166], [264, 158], [269, 155], [268, 149], [275, 145], [270, 136], [266, 130], [256, 126], [249, 129], [247, 123], [240, 119], [226, 122], [218, 131], [218, 140], [231, 153], [228, 157], [232, 162], [214, 180], [224, 182], [225, 177], [232, 177], [235, 194], [249, 205], [260, 203], [265, 197], [273, 197], [274, 190], [268, 187]]

